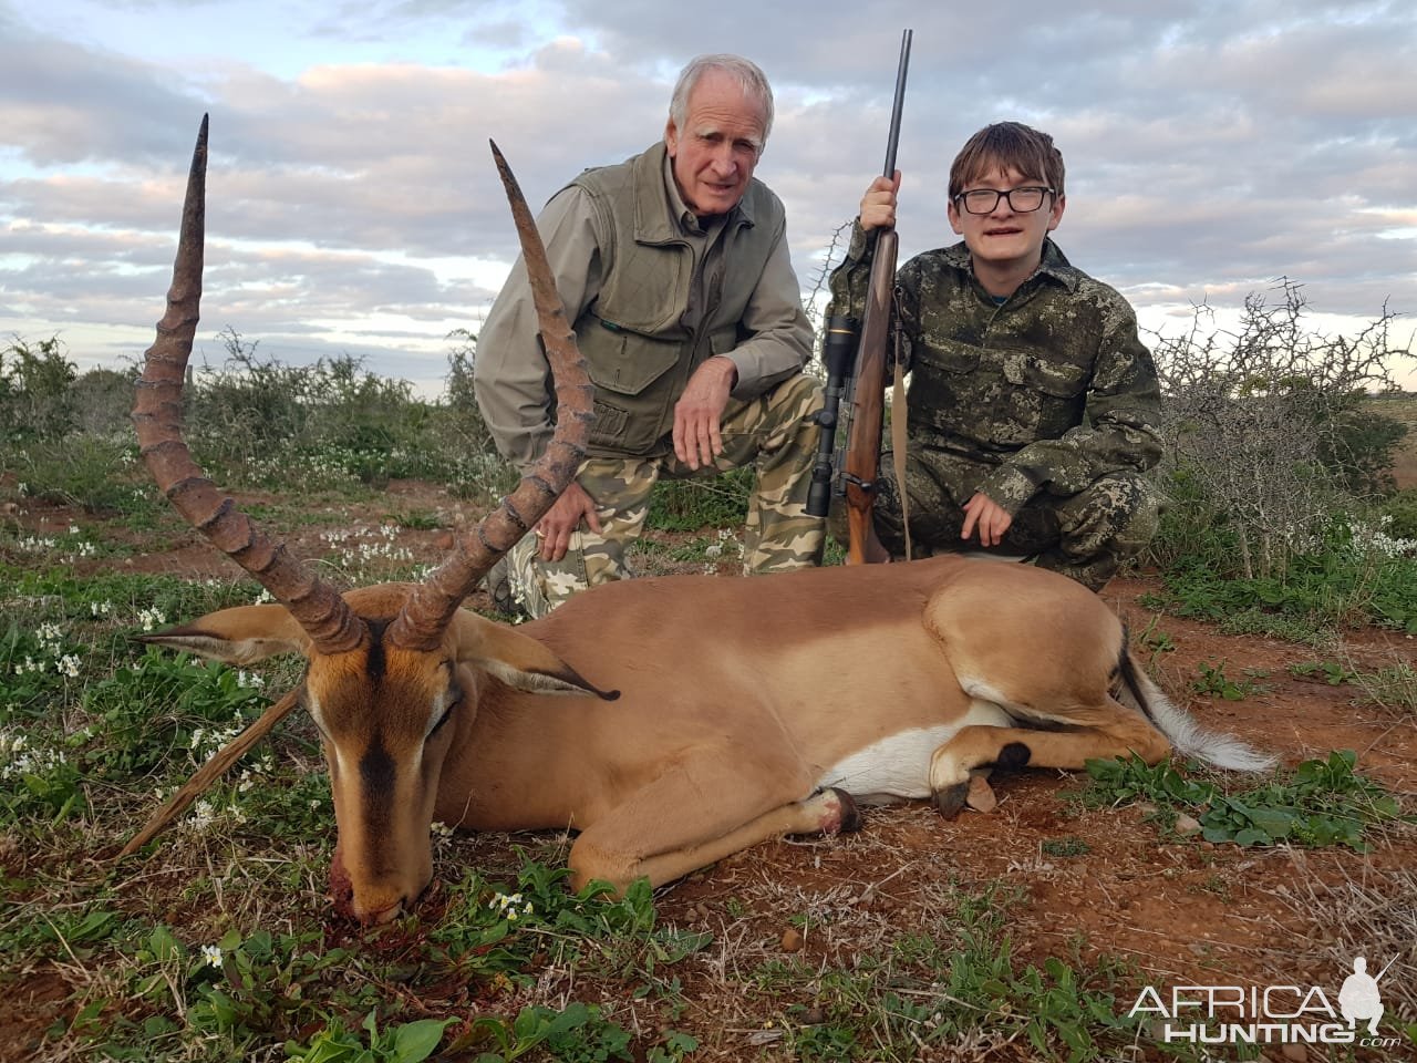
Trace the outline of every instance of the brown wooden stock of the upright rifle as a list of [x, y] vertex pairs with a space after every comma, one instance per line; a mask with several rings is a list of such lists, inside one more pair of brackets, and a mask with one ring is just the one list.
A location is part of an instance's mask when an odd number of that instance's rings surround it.
[[890, 554], [876, 537], [877, 466], [881, 425], [886, 420], [886, 371], [891, 364], [891, 296], [896, 289], [896, 258], [900, 238], [896, 230], [876, 235], [870, 288], [862, 315], [860, 346], [856, 354], [856, 384], [852, 391], [852, 431], [846, 441], [846, 527], [850, 544], [847, 564], [876, 564]]

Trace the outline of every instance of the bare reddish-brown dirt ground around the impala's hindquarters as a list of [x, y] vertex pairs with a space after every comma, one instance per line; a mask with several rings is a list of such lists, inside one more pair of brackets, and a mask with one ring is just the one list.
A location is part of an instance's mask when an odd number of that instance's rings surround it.
[[[424, 485], [394, 485], [391, 499], [385, 510], [448, 505]], [[69, 520], [62, 512], [34, 516], [34, 530], [64, 527]], [[302, 534], [313, 543], [317, 532]], [[293, 536], [296, 549], [300, 537]], [[407, 532], [400, 541], [419, 557], [435, 557], [448, 533]], [[122, 564], [133, 571], [230, 575], [230, 563], [196, 541]], [[1155, 621], [1169, 636], [1175, 648], [1158, 655], [1159, 679], [1200, 723], [1274, 751], [1287, 765], [1331, 750], [1355, 750], [1357, 771], [1399, 794], [1408, 812], [1414, 809], [1417, 720], [1356, 704], [1352, 686], [1301, 677], [1288, 666], [1333, 660], [1342, 652], [1356, 665], [1383, 668], [1417, 658], [1417, 641], [1367, 629], [1350, 632], [1340, 649], [1319, 651], [1224, 635], [1209, 625], [1156, 618], [1144, 602], [1158, 591], [1153, 575], [1136, 575], [1114, 580], [1102, 597], [1132, 632]], [[470, 604], [486, 602], [473, 598]], [[1263, 690], [1240, 702], [1190, 690], [1202, 663], [1221, 662], [1230, 676], [1254, 670]], [[862, 947], [863, 937], [846, 927], [869, 923], [881, 934], [907, 933], [928, 916], [941, 883], [1002, 882], [1022, 892], [1010, 911], [1015, 955], [1023, 961], [1041, 964], [1050, 955], [1074, 952], [1084, 960], [1112, 955], [1135, 964], [1139, 982], [1163, 994], [1173, 985], [1298, 984], [1321, 986], [1336, 1001], [1352, 958], [1366, 954], [1370, 967], [1397, 961], [1384, 978], [1384, 999], [1407, 1022], [1417, 1020], [1417, 943], [1394, 937], [1417, 927], [1417, 832], [1410, 826], [1377, 831], [1373, 850], [1363, 855], [1345, 848], [1240, 849], [1168, 835], [1135, 805], [1084, 809], [1076, 801], [1083, 785], [1061, 772], [995, 778], [998, 808], [966, 811], [954, 822], [939, 819], [924, 802], [873, 808], [859, 833], [761, 845], [690, 876], [662, 893], [660, 918], [713, 931], [723, 943], [720, 965], [748, 968], [762, 957], [785, 955], [786, 945], [808, 962], [825, 965], [843, 962]], [[1076, 855], [1050, 855], [1070, 839], [1061, 850]], [[509, 849], [507, 838], [492, 835], [472, 852], [497, 863]], [[835, 918], [809, 924], [801, 940], [789, 938], [785, 945], [791, 917], [818, 910], [836, 913]], [[745, 996], [737, 1003], [721, 996], [697, 1001], [693, 979], [686, 982], [691, 1001], [686, 1023], [699, 1011], [701, 1020], [718, 1029], [694, 1059], [750, 1057], [771, 1045], [771, 1030], [764, 1032]], [[58, 1003], [52, 984], [35, 982], [28, 989], [37, 1008]], [[711, 1015], [710, 1008], [716, 1009]], [[1404, 1050], [1410, 1049], [1359, 1050], [1357, 1057], [1411, 1057]], [[1282, 1059], [1322, 1056], [1311, 1050]]]

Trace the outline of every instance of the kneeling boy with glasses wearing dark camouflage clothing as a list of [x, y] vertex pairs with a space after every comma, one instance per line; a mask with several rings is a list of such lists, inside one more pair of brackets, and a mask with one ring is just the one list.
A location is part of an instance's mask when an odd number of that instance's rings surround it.
[[[896, 224], [898, 189], [897, 171], [862, 198], [829, 315], [860, 315], [867, 234]], [[1049, 238], [1064, 206], [1047, 133], [1000, 122], [955, 157], [948, 214], [964, 242], [896, 276], [911, 374], [904, 488], [917, 556], [1024, 554], [1097, 591], [1156, 530], [1161, 499], [1142, 473], [1161, 458], [1161, 397], [1131, 306]], [[879, 482], [876, 533], [903, 557], [888, 454]]]

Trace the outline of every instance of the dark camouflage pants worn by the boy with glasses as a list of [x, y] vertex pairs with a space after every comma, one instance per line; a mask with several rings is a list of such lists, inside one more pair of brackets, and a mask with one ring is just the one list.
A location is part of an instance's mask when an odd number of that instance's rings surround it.
[[[894, 557], [905, 556], [904, 522], [893, 456], [881, 455], [876, 499], [876, 534]], [[905, 461], [910, 536], [915, 557], [979, 550], [979, 540], [959, 539], [966, 503], [992, 466], [955, 455], [911, 449]], [[1013, 514], [1003, 541], [985, 553], [1027, 556], [1094, 591], [1139, 554], [1156, 534], [1162, 499], [1141, 475], [1118, 472], [1094, 480], [1077, 495], [1040, 492]]]

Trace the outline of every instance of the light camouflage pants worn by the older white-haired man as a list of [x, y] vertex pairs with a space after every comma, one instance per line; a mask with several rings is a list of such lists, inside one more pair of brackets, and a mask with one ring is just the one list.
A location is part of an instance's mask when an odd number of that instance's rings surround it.
[[507, 554], [512, 595], [534, 619], [577, 591], [632, 577], [625, 551], [643, 534], [649, 495], [660, 476], [713, 478], [750, 463], [757, 485], [744, 526], [744, 574], [820, 564], [823, 522], [806, 514], [818, 439], [813, 418], [820, 408], [820, 381], [796, 376], [758, 398], [730, 400], [720, 428], [723, 454], [713, 468], [690, 469], [673, 451], [656, 458], [588, 458], [575, 480], [595, 500], [601, 533], [574, 532], [560, 561], [543, 561], [536, 536], [523, 536]]

